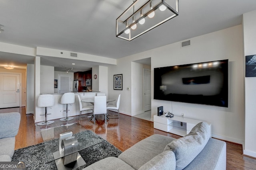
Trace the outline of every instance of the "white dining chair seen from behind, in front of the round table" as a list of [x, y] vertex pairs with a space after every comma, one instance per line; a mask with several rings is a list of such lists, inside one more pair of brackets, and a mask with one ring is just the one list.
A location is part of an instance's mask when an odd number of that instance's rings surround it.
[[95, 125], [95, 115], [104, 114], [107, 123], [107, 96], [94, 96], [93, 120]]

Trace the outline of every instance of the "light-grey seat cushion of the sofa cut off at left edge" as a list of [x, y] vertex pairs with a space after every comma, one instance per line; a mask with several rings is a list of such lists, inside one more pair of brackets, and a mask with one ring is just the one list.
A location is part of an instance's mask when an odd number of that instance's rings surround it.
[[12, 155], [14, 154], [14, 147], [15, 147], [15, 137], [0, 139], [0, 155], [6, 154], [12, 158]]

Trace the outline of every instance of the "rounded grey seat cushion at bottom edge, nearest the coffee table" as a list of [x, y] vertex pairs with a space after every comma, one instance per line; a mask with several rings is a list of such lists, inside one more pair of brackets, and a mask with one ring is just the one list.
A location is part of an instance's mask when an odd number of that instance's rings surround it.
[[87, 166], [82, 170], [134, 170], [131, 166], [126, 164], [124, 161], [110, 156], [108, 158], [104, 158]]

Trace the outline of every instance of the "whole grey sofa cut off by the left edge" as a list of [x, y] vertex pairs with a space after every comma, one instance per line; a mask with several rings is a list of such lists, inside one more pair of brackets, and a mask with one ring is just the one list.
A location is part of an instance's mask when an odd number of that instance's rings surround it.
[[0, 162], [12, 160], [19, 127], [20, 113], [0, 113]]

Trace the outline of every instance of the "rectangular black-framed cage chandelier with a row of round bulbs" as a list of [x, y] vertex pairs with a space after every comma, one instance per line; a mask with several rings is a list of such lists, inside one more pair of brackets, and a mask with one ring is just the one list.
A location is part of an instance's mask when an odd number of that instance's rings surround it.
[[178, 16], [178, 9], [179, 0], [133, 0], [116, 19], [116, 37], [131, 41]]

